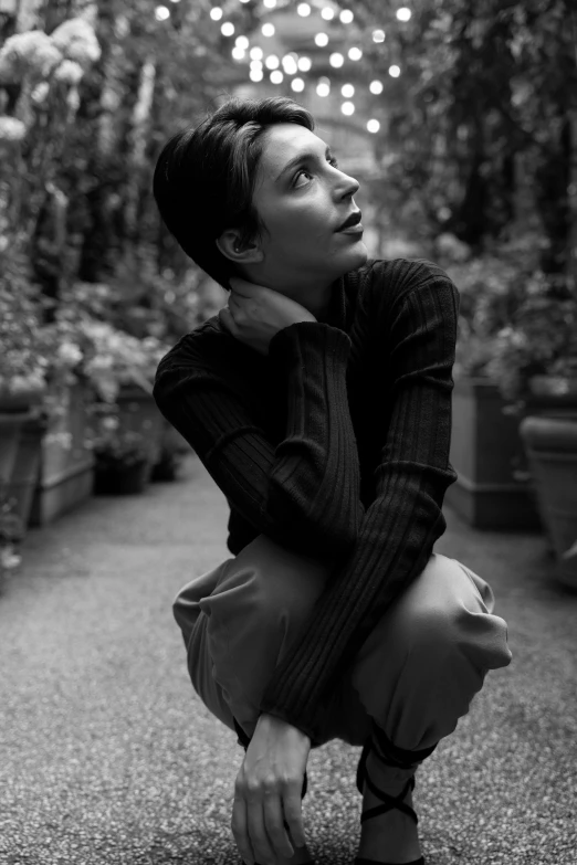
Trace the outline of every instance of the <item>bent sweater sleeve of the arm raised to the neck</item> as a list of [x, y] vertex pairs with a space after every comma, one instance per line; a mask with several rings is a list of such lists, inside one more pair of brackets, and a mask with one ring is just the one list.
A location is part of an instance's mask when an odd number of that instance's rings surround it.
[[286, 398], [285, 435], [276, 446], [222, 365], [190, 346], [160, 361], [154, 388], [160, 412], [231, 507], [277, 544], [331, 559], [350, 549], [361, 521], [346, 393], [350, 346], [344, 330], [319, 321], [298, 321], [273, 337], [269, 359]]

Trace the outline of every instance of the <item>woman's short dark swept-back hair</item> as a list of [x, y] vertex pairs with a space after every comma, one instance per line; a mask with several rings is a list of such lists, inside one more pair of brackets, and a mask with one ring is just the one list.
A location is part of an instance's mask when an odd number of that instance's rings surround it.
[[280, 123], [315, 127], [312, 114], [287, 97], [233, 97], [174, 135], [156, 163], [153, 191], [166, 226], [187, 255], [229, 291], [235, 265], [214, 241], [225, 229], [238, 228], [241, 243], [248, 243], [264, 228], [252, 193], [263, 133]]

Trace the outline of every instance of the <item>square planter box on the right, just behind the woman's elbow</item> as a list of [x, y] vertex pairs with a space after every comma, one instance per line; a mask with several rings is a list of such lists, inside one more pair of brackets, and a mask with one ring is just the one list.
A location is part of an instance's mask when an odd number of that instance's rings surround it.
[[486, 378], [454, 381], [450, 463], [459, 477], [444, 502], [470, 526], [491, 530], [542, 530], [531, 481], [516, 475], [523, 458], [518, 418]]

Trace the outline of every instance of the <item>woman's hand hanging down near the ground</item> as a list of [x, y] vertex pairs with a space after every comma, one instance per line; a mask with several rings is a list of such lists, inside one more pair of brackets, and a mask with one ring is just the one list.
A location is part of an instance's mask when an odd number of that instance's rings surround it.
[[305, 844], [302, 799], [311, 739], [273, 715], [260, 716], [234, 783], [232, 834], [248, 863], [274, 864]]

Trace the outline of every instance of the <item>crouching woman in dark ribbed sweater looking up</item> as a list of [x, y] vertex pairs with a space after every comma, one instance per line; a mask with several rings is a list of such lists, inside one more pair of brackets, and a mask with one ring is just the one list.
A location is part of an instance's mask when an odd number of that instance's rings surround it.
[[246, 863], [311, 862], [311, 748], [363, 745], [357, 865], [422, 864], [419, 763], [506, 666], [487, 583], [433, 552], [459, 295], [423, 261], [368, 261], [358, 182], [286, 98], [231, 99], [174, 136], [155, 198], [228, 306], [159, 365], [155, 398], [230, 505], [232, 558], [174, 606], [192, 684], [245, 757]]

